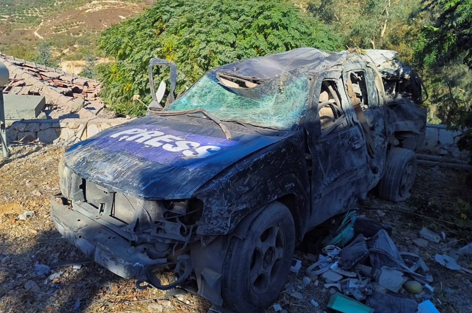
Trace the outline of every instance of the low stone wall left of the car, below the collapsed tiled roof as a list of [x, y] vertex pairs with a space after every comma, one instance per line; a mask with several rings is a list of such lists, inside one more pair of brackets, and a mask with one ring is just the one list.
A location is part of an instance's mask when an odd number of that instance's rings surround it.
[[38, 140], [44, 144], [51, 144], [61, 140], [72, 140], [72, 137], [75, 137], [74, 141], [79, 141], [104, 129], [129, 121], [130, 119], [127, 118], [21, 120], [8, 127], [7, 142]]

